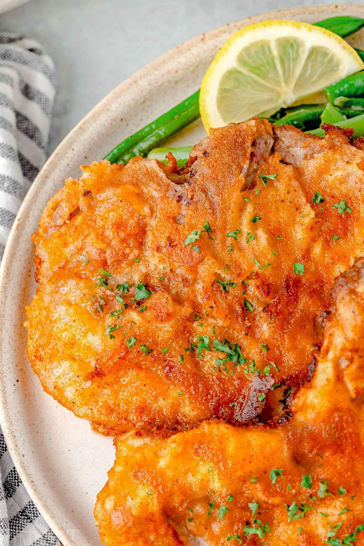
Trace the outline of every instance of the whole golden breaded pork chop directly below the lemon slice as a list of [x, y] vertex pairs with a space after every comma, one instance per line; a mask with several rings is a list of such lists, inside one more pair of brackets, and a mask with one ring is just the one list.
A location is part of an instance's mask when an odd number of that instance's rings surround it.
[[29, 360], [105, 434], [279, 414], [363, 252], [364, 152], [345, 135], [252, 119], [189, 163], [84, 166], [33, 236]]

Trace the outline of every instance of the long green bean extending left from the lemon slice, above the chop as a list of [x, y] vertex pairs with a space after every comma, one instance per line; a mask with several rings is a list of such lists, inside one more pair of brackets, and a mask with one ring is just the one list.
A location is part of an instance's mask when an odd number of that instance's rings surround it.
[[169, 138], [200, 117], [199, 95], [200, 90], [129, 136], [111, 150], [104, 159], [109, 159], [110, 163], [127, 163], [132, 157], [145, 157], [161, 140]]

